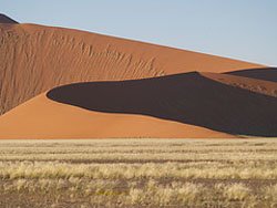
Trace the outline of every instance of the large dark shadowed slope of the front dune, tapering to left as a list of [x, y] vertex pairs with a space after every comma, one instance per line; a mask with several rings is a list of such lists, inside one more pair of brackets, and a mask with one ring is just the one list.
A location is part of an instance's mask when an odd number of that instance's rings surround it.
[[150, 115], [236, 135], [277, 136], [277, 98], [185, 73], [89, 82], [50, 91], [53, 101], [90, 111]]

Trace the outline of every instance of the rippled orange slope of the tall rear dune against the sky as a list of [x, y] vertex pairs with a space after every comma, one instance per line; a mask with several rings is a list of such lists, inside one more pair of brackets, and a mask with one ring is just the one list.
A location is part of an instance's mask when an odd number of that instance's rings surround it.
[[0, 24], [0, 114], [63, 84], [256, 67], [263, 65], [90, 32]]

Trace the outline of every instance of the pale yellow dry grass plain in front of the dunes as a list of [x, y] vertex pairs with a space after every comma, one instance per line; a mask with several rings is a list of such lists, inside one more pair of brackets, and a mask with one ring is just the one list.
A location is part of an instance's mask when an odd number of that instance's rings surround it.
[[0, 141], [0, 207], [277, 207], [277, 139]]

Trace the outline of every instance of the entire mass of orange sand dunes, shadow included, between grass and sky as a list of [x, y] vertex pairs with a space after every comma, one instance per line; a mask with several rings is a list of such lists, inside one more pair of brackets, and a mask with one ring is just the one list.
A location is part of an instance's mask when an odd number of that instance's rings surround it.
[[0, 138], [277, 136], [276, 69], [6, 19]]

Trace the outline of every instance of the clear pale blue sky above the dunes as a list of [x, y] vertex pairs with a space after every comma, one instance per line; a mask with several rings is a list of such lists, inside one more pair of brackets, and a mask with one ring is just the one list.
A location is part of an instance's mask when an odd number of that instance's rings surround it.
[[0, 13], [277, 66], [277, 0], [0, 0]]

